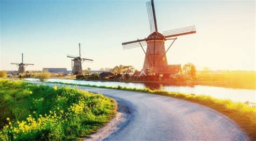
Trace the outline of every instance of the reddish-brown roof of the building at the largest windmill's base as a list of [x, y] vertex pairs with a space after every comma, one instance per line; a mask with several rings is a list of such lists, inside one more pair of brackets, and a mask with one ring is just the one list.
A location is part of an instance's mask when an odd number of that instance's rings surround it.
[[178, 74], [181, 72], [181, 65], [158, 65], [155, 72]]

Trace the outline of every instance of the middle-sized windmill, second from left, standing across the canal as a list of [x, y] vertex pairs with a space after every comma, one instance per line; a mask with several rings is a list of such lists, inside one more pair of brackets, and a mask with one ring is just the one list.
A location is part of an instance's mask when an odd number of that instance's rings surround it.
[[84, 61], [92, 62], [92, 59], [86, 59], [86, 58], [81, 58], [81, 44], [79, 43], [79, 57], [76, 57], [74, 55], [67, 55], [69, 58], [73, 58], [72, 61], [74, 62], [72, 65], [72, 73], [75, 75], [83, 75], [83, 69], [82, 69], [82, 64]]

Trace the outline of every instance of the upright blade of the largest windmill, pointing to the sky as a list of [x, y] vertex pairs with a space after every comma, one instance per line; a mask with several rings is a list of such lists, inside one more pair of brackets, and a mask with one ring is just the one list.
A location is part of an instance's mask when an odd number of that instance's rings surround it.
[[154, 2], [153, 0], [146, 2], [147, 5], [147, 15], [149, 16], [149, 24], [151, 33], [157, 31], [157, 19], [156, 12], [154, 11]]

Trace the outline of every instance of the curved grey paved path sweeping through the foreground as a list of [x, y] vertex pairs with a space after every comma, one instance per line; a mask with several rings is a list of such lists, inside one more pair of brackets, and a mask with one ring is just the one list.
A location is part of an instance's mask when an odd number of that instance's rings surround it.
[[248, 140], [226, 116], [199, 104], [133, 91], [78, 88], [112, 97], [130, 107], [129, 121], [105, 140]]

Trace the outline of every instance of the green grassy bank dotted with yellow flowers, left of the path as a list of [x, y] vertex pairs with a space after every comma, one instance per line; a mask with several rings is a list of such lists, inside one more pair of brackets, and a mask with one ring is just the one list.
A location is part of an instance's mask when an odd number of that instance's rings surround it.
[[110, 98], [68, 87], [0, 80], [0, 138], [62, 140], [89, 136], [116, 113]]

